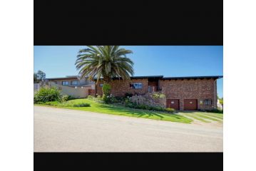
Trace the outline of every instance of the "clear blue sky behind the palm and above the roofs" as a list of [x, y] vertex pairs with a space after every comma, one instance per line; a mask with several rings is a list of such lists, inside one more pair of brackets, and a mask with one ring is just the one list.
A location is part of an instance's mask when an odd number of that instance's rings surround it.
[[[34, 72], [46, 78], [78, 74], [76, 55], [86, 46], [34, 46]], [[133, 51], [134, 76], [222, 76], [223, 46], [121, 46]], [[223, 79], [217, 93], [223, 96]]]

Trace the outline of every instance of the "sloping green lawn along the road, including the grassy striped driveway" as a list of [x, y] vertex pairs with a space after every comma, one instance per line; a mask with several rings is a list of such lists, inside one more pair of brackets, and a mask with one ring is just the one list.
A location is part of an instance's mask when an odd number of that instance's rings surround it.
[[[78, 103], [89, 103], [90, 107], [71, 107], [73, 104]], [[38, 104], [36, 104], [38, 105]], [[113, 115], [125, 115], [136, 118], [148, 118], [153, 120], [167, 120], [178, 123], [191, 123], [193, 120], [200, 120], [204, 123], [210, 122], [218, 122], [222, 123], [223, 114], [221, 113], [204, 113], [199, 111], [184, 111], [175, 114], [164, 113], [164, 112], [156, 112], [150, 110], [140, 110], [133, 108], [124, 108], [123, 106], [117, 105], [108, 105], [103, 103], [98, 103], [95, 100], [83, 98], [76, 100], [68, 100], [66, 103], [55, 103], [55, 105], [43, 105], [43, 106], [51, 106], [56, 108], [68, 108], [74, 110], [83, 110], [83, 111], [91, 111], [96, 113], [106, 113]]]

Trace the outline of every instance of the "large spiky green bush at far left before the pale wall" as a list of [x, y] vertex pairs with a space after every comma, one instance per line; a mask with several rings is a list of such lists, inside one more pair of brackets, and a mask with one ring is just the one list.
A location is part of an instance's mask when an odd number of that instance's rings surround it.
[[40, 88], [40, 90], [34, 95], [34, 103], [59, 101], [61, 102], [62, 95], [57, 88]]

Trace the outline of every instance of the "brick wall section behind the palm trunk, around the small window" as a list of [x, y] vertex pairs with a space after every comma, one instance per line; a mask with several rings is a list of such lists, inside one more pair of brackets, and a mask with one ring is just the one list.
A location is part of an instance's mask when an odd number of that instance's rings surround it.
[[[102, 95], [102, 87], [100, 87], [101, 83], [103, 82], [99, 81], [96, 86], [96, 93], [98, 95]], [[142, 88], [130, 88], [130, 83], [142, 83]], [[110, 85], [111, 93], [115, 96], [124, 96], [126, 93], [145, 94], [148, 92], [148, 78], [131, 79], [130, 81], [114, 80], [111, 81]]]

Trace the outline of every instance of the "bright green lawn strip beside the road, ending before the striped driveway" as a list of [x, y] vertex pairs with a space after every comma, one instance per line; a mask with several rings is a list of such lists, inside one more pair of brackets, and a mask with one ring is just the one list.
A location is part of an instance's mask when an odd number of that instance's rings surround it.
[[[91, 104], [91, 107], [70, 107], [70, 106], [68, 106], [68, 105], [75, 104], [75, 103], [89, 103], [89, 104]], [[50, 106], [50, 105], [44, 105], [44, 106]], [[54, 106], [54, 107], [91, 111], [91, 112], [96, 112], [96, 113], [107, 113], [107, 114], [113, 114], [113, 115], [125, 115], [125, 116], [136, 117], [136, 118], [148, 118], [148, 119], [153, 119], [153, 120], [167, 120], [167, 121], [179, 122], [179, 123], [191, 123], [193, 121], [190, 118], [186, 118], [183, 115], [155, 112], [155, 111], [150, 111], [150, 110], [124, 108], [122, 106], [98, 103], [91, 99], [68, 100], [66, 103], [64, 103], [62, 105], [56, 104], [56, 106]]]

